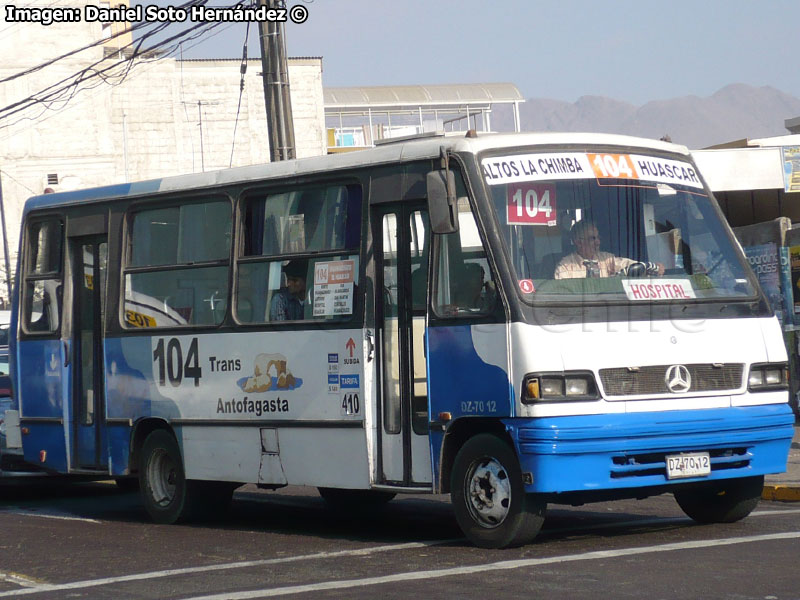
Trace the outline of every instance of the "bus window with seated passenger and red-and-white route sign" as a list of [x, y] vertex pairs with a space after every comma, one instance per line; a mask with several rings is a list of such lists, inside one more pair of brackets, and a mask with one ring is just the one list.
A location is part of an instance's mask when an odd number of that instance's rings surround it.
[[358, 286], [361, 190], [309, 186], [244, 203], [236, 316], [243, 323], [346, 319]]

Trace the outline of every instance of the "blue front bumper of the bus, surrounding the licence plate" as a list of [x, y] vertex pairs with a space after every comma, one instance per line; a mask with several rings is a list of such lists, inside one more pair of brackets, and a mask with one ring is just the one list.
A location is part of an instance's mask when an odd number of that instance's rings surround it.
[[540, 493], [675, 483], [664, 457], [682, 452], [711, 451], [712, 472], [678, 483], [780, 473], [794, 434], [788, 404], [503, 422]]

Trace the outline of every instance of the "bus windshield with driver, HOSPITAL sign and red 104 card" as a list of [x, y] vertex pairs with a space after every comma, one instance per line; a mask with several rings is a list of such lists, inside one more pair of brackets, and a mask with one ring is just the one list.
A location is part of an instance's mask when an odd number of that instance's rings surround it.
[[530, 302], [755, 295], [713, 199], [680, 157], [529, 153], [481, 166]]

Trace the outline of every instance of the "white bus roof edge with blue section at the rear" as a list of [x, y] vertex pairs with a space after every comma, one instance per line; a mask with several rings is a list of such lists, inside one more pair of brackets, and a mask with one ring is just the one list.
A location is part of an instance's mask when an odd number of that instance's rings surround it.
[[456, 152], [478, 153], [490, 149], [553, 145], [604, 145], [689, 154], [688, 148], [677, 144], [603, 133], [500, 133], [478, 134], [477, 137], [469, 138], [465, 137], [463, 132], [428, 134], [419, 139], [398, 140], [395, 143], [385, 143], [376, 148], [354, 152], [43, 194], [33, 196], [26, 202], [25, 213], [31, 210], [113, 198], [211, 188], [261, 179], [299, 177], [326, 171], [435, 158], [439, 156], [442, 146]]

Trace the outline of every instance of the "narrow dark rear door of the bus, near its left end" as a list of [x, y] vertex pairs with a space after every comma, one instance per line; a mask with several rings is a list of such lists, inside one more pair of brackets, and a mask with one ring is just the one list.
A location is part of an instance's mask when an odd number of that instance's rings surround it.
[[70, 238], [72, 257], [72, 465], [107, 467], [103, 322], [108, 244], [105, 235]]

